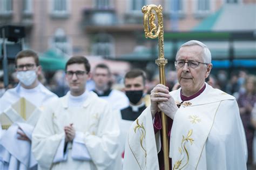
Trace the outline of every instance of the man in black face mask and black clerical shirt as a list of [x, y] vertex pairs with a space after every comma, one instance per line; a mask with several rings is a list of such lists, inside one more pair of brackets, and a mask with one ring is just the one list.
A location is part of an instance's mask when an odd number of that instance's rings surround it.
[[142, 70], [134, 69], [125, 74], [125, 93], [130, 105], [121, 110], [122, 119], [134, 121], [145, 110], [143, 97], [146, 93], [145, 81], [146, 75]]

